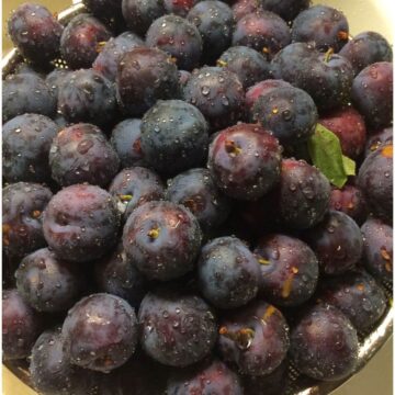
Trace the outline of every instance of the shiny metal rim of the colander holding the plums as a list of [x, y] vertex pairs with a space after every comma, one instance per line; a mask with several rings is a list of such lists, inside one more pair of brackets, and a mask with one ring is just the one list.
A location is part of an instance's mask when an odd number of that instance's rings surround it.
[[[86, 12], [87, 9], [82, 3], [77, 3], [68, 9], [59, 12], [58, 20], [60, 23], [68, 23], [68, 21], [82, 12]], [[10, 50], [2, 59], [1, 59], [1, 69], [2, 77], [5, 78], [9, 74], [13, 71], [15, 66], [23, 61], [23, 57], [19, 54], [19, 52], [14, 48]], [[392, 293], [392, 292], [391, 292]], [[361, 371], [366, 363], [375, 356], [375, 353], [385, 345], [385, 342], [390, 339], [393, 334], [393, 320], [394, 320], [394, 308], [390, 307], [382, 318], [380, 325], [376, 329], [371, 332], [368, 337], [364, 338], [362, 342], [360, 342], [359, 349], [359, 361], [357, 364], [357, 369], [352, 375], [342, 379], [340, 381], [334, 382], [318, 382], [303, 390], [294, 390], [291, 392], [286, 392], [289, 395], [327, 395], [332, 391], [339, 388], [342, 384], [345, 384], [349, 379], [351, 379], [356, 373]], [[18, 375], [24, 383], [29, 383], [29, 373], [26, 369], [22, 366], [18, 366], [15, 362], [5, 364], [15, 375]], [[297, 377], [294, 382], [292, 382], [292, 387], [300, 387], [298, 383], [300, 379]], [[302, 384], [303, 386], [303, 384]]]

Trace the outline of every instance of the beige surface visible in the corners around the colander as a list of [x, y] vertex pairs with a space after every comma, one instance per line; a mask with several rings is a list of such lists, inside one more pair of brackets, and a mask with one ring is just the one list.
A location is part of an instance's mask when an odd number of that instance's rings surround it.
[[[59, 11], [71, 4], [71, 0], [36, 0], [45, 4], [53, 12]], [[5, 35], [4, 23], [11, 10], [23, 0], [3, 0], [3, 53], [11, 43]], [[331, 4], [342, 10], [350, 21], [350, 31], [358, 34], [361, 31], [374, 30], [384, 34], [393, 43], [394, 3], [393, 0], [321, 0], [320, 3]], [[3, 369], [3, 395], [33, 395], [30, 388], [18, 383], [16, 377]], [[366, 368], [354, 375], [334, 395], [391, 395], [393, 394], [393, 341], [392, 339], [373, 358]]]

